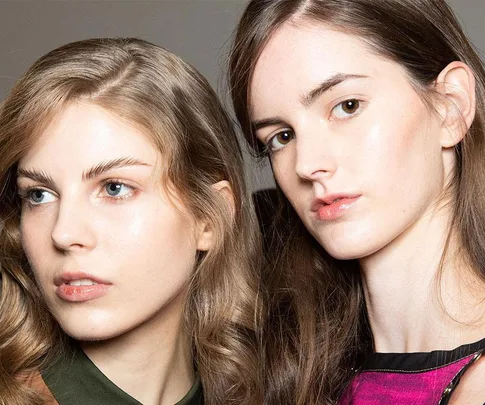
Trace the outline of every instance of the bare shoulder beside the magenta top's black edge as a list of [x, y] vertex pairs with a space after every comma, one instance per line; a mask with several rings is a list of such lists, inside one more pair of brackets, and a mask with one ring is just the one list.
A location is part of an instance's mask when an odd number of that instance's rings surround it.
[[485, 404], [485, 353], [463, 375], [449, 402], [449, 405], [465, 404]]

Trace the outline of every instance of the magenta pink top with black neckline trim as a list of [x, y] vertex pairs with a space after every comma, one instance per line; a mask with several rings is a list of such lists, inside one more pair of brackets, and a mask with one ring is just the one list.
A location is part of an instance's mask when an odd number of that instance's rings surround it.
[[374, 353], [344, 390], [339, 405], [445, 405], [484, 351], [485, 339], [448, 351]]

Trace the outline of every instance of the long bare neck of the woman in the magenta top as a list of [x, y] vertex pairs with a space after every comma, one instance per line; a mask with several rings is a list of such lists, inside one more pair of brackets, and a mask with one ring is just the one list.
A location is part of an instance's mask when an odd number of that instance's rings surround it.
[[360, 260], [378, 352], [450, 350], [485, 336], [483, 284], [458, 253], [444, 207]]

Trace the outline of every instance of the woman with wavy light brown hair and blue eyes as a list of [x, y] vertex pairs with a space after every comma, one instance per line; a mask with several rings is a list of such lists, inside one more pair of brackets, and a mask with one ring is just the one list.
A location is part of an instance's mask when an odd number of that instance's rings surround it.
[[241, 167], [215, 93], [170, 52], [41, 57], [0, 112], [0, 403], [260, 403]]

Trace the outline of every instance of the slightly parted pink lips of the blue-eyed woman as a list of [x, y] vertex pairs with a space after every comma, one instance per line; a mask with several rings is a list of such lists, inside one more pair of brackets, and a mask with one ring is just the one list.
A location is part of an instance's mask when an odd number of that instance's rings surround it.
[[[70, 285], [75, 280], [91, 280], [93, 285]], [[54, 284], [57, 286], [56, 294], [59, 298], [69, 302], [84, 302], [105, 295], [111, 288], [111, 283], [88, 273], [63, 273], [56, 277]]]

